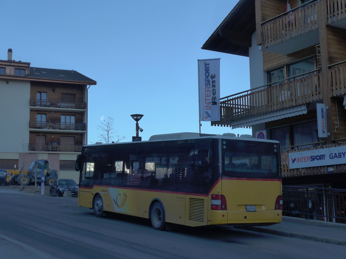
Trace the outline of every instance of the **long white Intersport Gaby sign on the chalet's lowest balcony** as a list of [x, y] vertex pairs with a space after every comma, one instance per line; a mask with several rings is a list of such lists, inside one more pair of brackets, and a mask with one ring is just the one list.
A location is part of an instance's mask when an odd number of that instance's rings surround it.
[[346, 146], [289, 153], [290, 169], [346, 164]]

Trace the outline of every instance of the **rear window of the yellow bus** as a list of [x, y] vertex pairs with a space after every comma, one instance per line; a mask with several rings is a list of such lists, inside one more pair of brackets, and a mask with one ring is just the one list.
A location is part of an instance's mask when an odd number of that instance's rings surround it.
[[242, 178], [280, 177], [279, 144], [222, 140], [222, 175]]

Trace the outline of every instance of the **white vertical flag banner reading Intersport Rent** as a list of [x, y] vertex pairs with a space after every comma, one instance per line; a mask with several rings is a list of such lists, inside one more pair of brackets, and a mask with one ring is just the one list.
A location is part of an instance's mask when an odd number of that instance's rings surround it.
[[198, 59], [200, 121], [220, 120], [220, 58]]

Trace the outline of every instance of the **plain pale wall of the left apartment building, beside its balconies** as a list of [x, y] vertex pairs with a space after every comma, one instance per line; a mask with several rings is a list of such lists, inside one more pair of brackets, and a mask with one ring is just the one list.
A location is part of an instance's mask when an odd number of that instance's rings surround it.
[[29, 99], [29, 81], [0, 79], [0, 152], [28, 152]]

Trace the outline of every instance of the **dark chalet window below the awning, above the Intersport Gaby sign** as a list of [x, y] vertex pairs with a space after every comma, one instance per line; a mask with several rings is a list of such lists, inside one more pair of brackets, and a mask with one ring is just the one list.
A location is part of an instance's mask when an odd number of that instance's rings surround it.
[[272, 128], [270, 132], [271, 139], [280, 142], [282, 151], [310, 147], [318, 142], [317, 121]]

